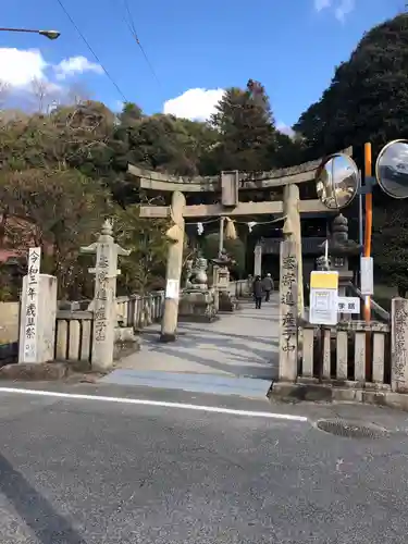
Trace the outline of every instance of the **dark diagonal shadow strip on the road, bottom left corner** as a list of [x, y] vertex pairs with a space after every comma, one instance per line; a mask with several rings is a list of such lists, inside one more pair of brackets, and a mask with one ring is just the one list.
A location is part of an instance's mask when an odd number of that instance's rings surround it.
[[87, 544], [66, 518], [58, 514], [1, 454], [0, 493], [9, 499], [41, 544]]

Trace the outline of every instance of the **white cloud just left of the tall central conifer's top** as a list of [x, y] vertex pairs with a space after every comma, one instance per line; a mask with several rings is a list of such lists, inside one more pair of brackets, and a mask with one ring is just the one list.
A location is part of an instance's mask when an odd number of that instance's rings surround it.
[[214, 113], [224, 89], [188, 89], [183, 95], [164, 102], [163, 113], [193, 121], [206, 121]]

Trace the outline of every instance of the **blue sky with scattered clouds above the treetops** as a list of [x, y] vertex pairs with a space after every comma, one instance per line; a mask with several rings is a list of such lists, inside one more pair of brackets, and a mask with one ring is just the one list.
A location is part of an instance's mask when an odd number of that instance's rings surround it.
[[[397, 14], [405, 3], [128, 0], [159, 84], [123, 21], [123, 0], [63, 2], [124, 97], [145, 112], [163, 111], [166, 101], [176, 99], [165, 111], [202, 118], [221, 89], [252, 78], [265, 86], [276, 121], [287, 125], [319, 99], [334, 66], [348, 58], [363, 32]], [[0, 33], [0, 81], [11, 84], [10, 95], [21, 91], [34, 73], [59, 89], [86, 86], [91, 98], [118, 108], [122, 96], [57, 0], [5, 0], [0, 24], [61, 32], [55, 41]]]

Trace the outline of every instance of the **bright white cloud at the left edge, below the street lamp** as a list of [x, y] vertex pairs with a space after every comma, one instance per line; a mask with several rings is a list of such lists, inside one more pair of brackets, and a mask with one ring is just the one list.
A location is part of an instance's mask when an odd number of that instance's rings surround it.
[[10, 87], [25, 87], [44, 79], [48, 63], [38, 49], [0, 48], [0, 81]]

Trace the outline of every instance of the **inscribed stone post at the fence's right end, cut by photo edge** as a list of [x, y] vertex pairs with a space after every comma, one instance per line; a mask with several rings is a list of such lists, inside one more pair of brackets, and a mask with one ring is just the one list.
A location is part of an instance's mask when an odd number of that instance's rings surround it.
[[391, 386], [408, 393], [408, 300], [393, 298], [391, 307]]

